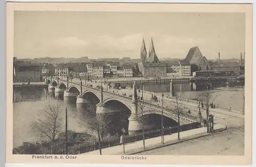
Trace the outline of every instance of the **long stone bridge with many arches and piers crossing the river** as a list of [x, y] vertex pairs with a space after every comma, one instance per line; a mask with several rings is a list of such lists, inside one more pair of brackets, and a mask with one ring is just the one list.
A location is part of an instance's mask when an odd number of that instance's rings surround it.
[[[76, 103], [82, 104], [87, 103], [87, 99], [85, 98], [88, 93], [93, 93], [95, 97], [97, 97], [97, 101], [99, 103], [96, 105], [96, 113], [108, 113], [108, 112], [116, 112], [113, 110], [109, 110], [105, 107], [105, 104], [110, 101], [118, 101], [125, 105], [127, 108], [131, 110], [131, 116], [129, 117], [129, 134], [136, 133], [136, 131], [142, 130], [142, 125], [140, 121], [140, 116], [144, 114], [162, 114], [163, 115], [178, 122], [178, 113], [174, 108], [160, 106], [156, 104], [152, 104], [151, 102], [146, 102], [139, 100], [136, 83], [134, 81], [133, 85], [133, 96], [129, 97], [124, 96], [122, 89], [118, 90], [119, 92], [113, 91], [113, 89], [103, 88], [103, 82], [94, 83], [84, 83], [85, 80], [71, 80], [66, 78], [45, 78], [46, 83], [48, 84], [48, 89], [54, 89], [55, 93], [63, 93], [63, 97], [76, 97]], [[107, 86], [108, 87], [108, 86]], [[124, 89], [125, 90], [125, 89]], [[180, 124], [189, 124], [192, 122], [200, 122], [200, 118], [193, 114], [180, 112]]]

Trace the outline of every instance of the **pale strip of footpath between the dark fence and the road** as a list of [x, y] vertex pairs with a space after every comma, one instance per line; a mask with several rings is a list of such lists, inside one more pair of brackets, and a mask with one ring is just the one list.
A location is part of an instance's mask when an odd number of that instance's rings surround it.
[[[224, 131], [226, 129], [225, 125], [215, 124], [214, 125], [214, 133]], [[180, 140], [178, 140], [178, 133], [173, 133], [172, 135], [164, 135], [164, 144], [161, 143], [161, 136], [145, 139], [145, 150], [152, 150], [168, 145], [174, 145], [179, 142], [183, 142], [186, 140], [196, 139], [199, 137], [207, 136], [214, 133], [207, 133], [206, 128], [197, 128], [192, 130], [187, 130], [184, 132], [180, 132]], [[143, 140], [131, 142], [124, 145], [124, 153], [123, 153], [123, 145], [121, 146], [113, 146], [109, 148], [104, 148], [101, 150], [102, 155], [132, 155], [136, 153], [143, 152]], [[84, 154], [90, 155], [98, 155], [99, 150], [91, 151]]]

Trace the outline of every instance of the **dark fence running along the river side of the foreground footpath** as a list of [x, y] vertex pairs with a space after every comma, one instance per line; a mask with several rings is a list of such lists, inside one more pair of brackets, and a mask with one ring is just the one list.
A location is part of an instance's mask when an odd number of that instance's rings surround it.
[[[180, 132], [195, 129], [195, 128], [200, 128], [200, 127], [201, 127], [201, 124], [197, 123], [197, 122], [196, 123], [191, 123], [191, 124], [186, 124], [186, 125], [181, 125], [180, 126]], [[177, 133], [178, 132], [178, 126], [171, 127], [171, 129], [165, 128], [164, 129], [164, 135], [170, 134], [170, 131], [172, 131], [172, 133]], [[161, 136], [161, 130], [160, 129], [144, 132], [144, 138], [145, 139], [159, 137], [159, 136]], [[125, 141], [126, 144], [130, 143], [130, 142], [134, 142], [134, 141], [140, 141], [140, 140], [143, 140], [143, 133], [137, 133], [135, 135], [126, 135], [126, 136], [124, 136], [124, 141]], [[120, 141], [120, 137], [116, 137], [116, 138], [111, 139], [111, 140], [103, 140], [103, 141], [100, 142], [100, 147], [101, 147], [101, 149], [103, 149], [103, 148], [117, 146], [117, 145], [119, 145], [119, 141]], [[77, 150], [73, 154], [81, 154], [81, 153], [87, 153], [87, 152], [94, 151], [94, 150], [99, 150], [99, 145], [98, 144], [99, 143], [97, 141], [94, 141], [94, 144], [87, 145], [87, 146], [80, 146], [79, 150]]]

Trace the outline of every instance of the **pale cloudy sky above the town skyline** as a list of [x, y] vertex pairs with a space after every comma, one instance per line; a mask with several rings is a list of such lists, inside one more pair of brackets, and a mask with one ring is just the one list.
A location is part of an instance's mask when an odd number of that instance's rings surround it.
[[14, 56], [140, 58], [144, 37], [158, 57], [184, 58], [199, 46], [207, 59], [240, 58], [242, 13], [15, 11]]

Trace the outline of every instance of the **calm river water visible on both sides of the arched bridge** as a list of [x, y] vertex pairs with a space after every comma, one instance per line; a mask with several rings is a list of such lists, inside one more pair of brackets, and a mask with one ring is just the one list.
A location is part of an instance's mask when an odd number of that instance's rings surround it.
[[[169, 84], [150, 84], [145, 85], [144, 89], [152, 92], [168, 93]], [[184, 98], [198, 99], [200, 98], [200, 92], [191, 91], [189, 83], [176, 84], [174, 86], [175, 91], [184, 92]], [[232, 107], [233, 109], [243, 109], [243, 92], [241, 88], [216, 88], [214, 91], [214, 103], [223, 107]], [[78, 123], [77, 110], [86, 107], [76, 105], [76, 98], [55, 98], [54, 92], [48, 92], [45, 88], [15, 88], [15, 96], [17, 102], [13, 103], [13, 146], [17, 147], [22, 145], [25, 141], [40, 141], [41, 138], [33, 133], [32, 123], [40, 118], [40, 111], [45, 105], [49, 103], [56, 103], [62, 106], [62, 116], [65, 115], [65, 109], [68, 110], [68, 128], [76, 132], [83, 132], [86, 130]], [[119, 104], [116, 104], [119, 105]], [[123, 106], [117, 106], [122, 108]], [[123, 109], [123, 113], [129, 112], [127, 109]], [[129, 122], [127, 121], [126, 114], [117, 115], [118, 120], [123, 118], [123, 122], [118, 122], [118, 127], [127, 127]], [[122, 124], [122, 125], [120, 125]], [[114, 125], [116, 127], [117, 125]], [[63, 123], [63, 127], [65, 124]], [[115, 132], [114, 132], [115, 133]]]

